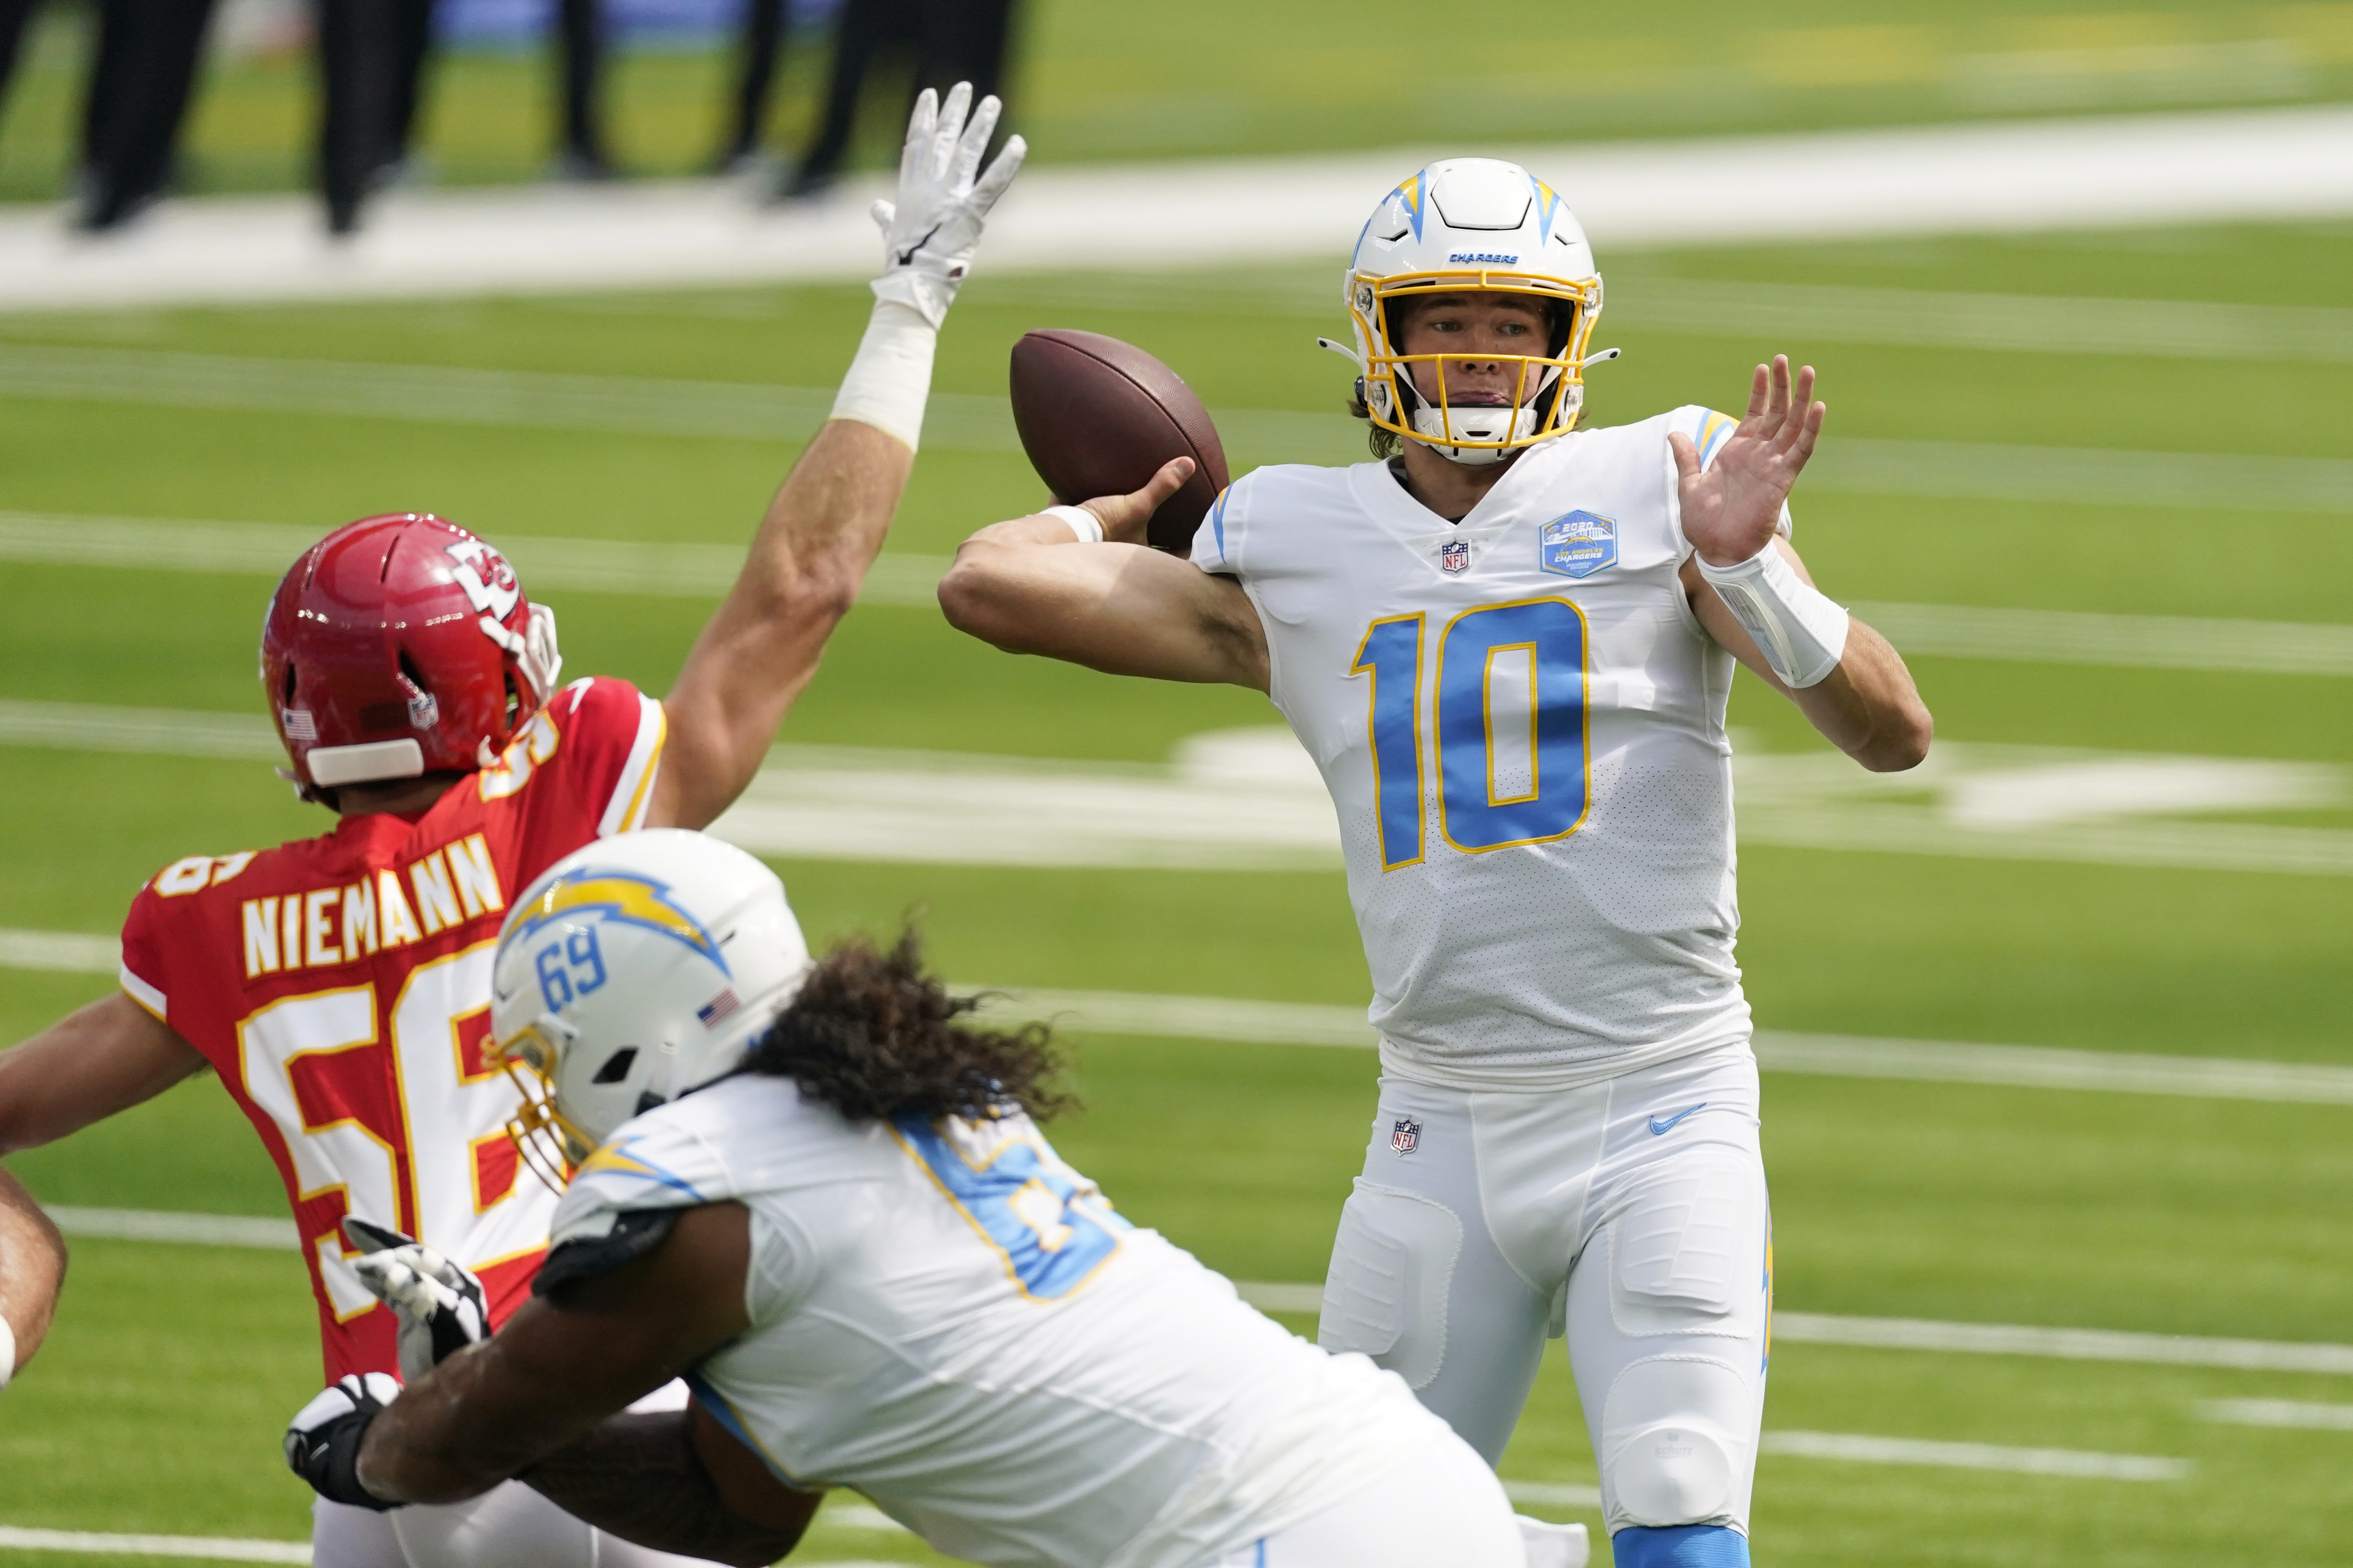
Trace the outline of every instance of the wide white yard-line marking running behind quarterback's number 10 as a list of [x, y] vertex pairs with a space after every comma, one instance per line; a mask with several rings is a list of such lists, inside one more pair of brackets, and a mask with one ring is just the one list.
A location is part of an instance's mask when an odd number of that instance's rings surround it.
[[[0, 702], [0, 744], [275, 760], [266, 720]], [[2353, 876], [2353, 829], [2205, 822], [2334, 810], [2339, 763], [1944, 742], [1911, 772], [1734, 753], [1739, 841], [2172, 871]], [[1287, 730], [1186, 737], [1169, 763], [779, 746], [711, 831], [779, 859], [1334, 871], [1339, 824]]]

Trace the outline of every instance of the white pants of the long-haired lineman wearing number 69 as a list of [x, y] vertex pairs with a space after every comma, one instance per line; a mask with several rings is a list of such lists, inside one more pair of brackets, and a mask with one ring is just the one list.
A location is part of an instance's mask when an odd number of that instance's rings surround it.
[[1202, 1568], [1525, 1568], [1504, 1486], [1442, 1436], [1365, 1490]]

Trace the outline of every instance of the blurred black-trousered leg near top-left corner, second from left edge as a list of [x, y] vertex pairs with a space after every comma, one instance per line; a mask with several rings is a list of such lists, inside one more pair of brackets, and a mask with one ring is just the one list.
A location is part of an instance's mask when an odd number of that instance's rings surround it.
[[106, 233], [172, 184], [216, 0], [99, 0], [73, 226]]

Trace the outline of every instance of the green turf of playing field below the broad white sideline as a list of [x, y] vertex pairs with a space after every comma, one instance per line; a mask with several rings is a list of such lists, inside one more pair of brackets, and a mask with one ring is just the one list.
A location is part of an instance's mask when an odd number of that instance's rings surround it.
[[[1085, 26], [1073, 7], [1038, 12], [1042, 40]], [[1045, 64], [1038, 75], [1045, 113], [1054, 75]], [[2348, 252], [2344, 226], [2292, 226], [1605, 257], [1600, 341], [1628, 356], [1598, 370], [1593, 391], [1602, 421], [1722, 405], [1758, 353], [1786, 346], [1821, 365], [1833, 440], [2344, 459], [2353, 367], [2341, 363], [1666, 334], [1645, 327], [1645, 294], [1739, 280], [2346, 306]], [[948, 327], [939, 386], [1000, 391], [1019, 332], [1075, 325], [1160, 351], [1212, 407], [1329, 410], [1339, 365], [1308, 341], [1339, 325], [1313, 306], [1320, 283], [1176, 280], [1155, 308], [1148, 287], [984, 273]], [[1285, 304], [1301, 292], [1308, 304]], [[814, 386], [847, 360], [861, 301], [864, 290], [826, 287], [5, 318], [0, 344]], [[325, 527], [431, 506], [492, 537], [727, 542], [748, 532], [791, 459], [791, 445], [755, 440], [0, 400], [0, 511], [26, 513]], [[1031, 504], [1019, 454], [929, 450], [892, 549], [944, 553]], [[1802, 485], [1795, 511], [1814, 572], [1852, 598], [2353, 622], [2341, 591], [2353, 534], [2329, 513], [1809, 497]], [[5, 563], [0, 699], [256, 711], [252, 643], [268, 586]], [[548, 598], [569, 671], [652, 690], [708, 612], [680, 598]], [[1915, 669], [1941, 742], [2353, 763], [2344, 678], [1951, 657]], [[993, 655], [925, 610], [864, 607], [786, 739], [1160, 760], [1188, 735], [1271, 720], [1245, 692], [1120, 685]], [[1734, 723], [1767, 751], [1819, 746], [1746, 678]], [[108, 932], [167, 859], [325, 826], [264, 765], [238, 760], [0, 746], [0, 925], [33, 930]], [[2294, 822], [2341, 829], [2353, 812], [2339, 803]], [[1788, 848], [1741, 859], [1741, 956], [1769, 1029], [2353, 1064], [2341, 876]], [[958, 977], [1365, 996], [1337, 873], [779, 869], [812, 932], [920, 911]], [[0, 1038], [101, 991], [94, 977], [5, 972]], [[1367, 1055], [1073, 1045], [1087, 1109], [1059, 1144], [1129, 1215], [1238, 1278], [1322, 1276], [1372, 1111]], [[2353, 1109], [1767, 1076], [1765, 1137], [1784, 1311], [2353, 1340]], [[209, 1081], [12, 1168], [56, 1203], [280, 1208], [266, 1158]], [[82, 1243], [56, 1337], [0, 1396], [0, 1526], [299, 1537], [306, 1493], [275, 1453], [315, 1375], [292, 1257]], [[2209, 1424], [2198, 1406], [2214, 1398], [2344, 1406], [2353, 1382], [1781, 1344], [1767, 1429], [2160, 1455], [2193, 1469], [2137, 1483], [1767, 1455], [1755, 1561], [2344, 1561], [2353, 1434]], [[1593, 1481], [1558, 1358], [1504, 1471]], [[826, 1523], [802, 1556], [939, 1561], [908, 1540], [849, 1519]]]

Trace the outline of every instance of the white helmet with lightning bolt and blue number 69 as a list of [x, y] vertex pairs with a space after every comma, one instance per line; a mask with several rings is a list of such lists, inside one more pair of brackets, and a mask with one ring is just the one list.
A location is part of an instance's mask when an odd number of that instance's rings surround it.
[[565, 855], [506, 911], [489, 982], [522, 1161], [562, 1189], [624, 1121], [741, 1067], [807, 972], [784, 883], [729, 843], [649, 829]]

